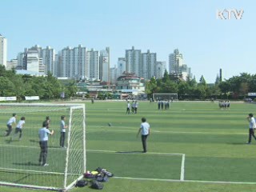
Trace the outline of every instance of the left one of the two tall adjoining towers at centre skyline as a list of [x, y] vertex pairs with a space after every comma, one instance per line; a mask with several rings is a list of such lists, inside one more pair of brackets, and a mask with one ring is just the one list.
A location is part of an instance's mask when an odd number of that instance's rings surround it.
[[139, 70], [142, 69], [142, 50], [126, 50], [126, 72], [139, 76]]

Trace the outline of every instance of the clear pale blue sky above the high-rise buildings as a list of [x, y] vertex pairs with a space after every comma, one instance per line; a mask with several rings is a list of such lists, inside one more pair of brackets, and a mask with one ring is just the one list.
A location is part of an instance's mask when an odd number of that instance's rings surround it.
[[[134, 46], [166, 64], [178, 49], [197, 81], [203, 75], [215, 82], [220, 69], [223, 79], [256, 74], [254, 0], [0, 0], [0, 6], [8, 60], [34, 45], [58, 52], [81, 44], [109, 46], [114, 67]], [[220, 19], [225, 9], [243, 10], [242, 18]]]

